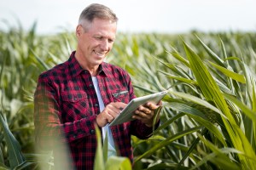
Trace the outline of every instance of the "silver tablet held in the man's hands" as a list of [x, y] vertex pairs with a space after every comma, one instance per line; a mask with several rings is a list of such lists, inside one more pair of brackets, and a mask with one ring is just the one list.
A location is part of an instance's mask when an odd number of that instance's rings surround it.
[[118, 125], [124, 122], [129, 122], [134, 120], [132, 118], [134, 111], [140, 105], [145, 105], [147, 102], [151, 102], [154, 105], [158, 104], [160, 100], [168, 93], [168, 91], [163, 91], [155, 94], [149, 94], [143, 97], [138, 97], [135, 99], [131, 99], [128, 105], [120, 112], [119, 116], [115, 117], [113, 122], [109, 124], [109, 126]]

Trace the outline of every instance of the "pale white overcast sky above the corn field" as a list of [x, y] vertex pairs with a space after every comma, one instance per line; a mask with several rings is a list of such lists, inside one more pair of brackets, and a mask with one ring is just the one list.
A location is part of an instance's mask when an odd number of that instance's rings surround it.
[[122, 32], [256, 31], [255, 0], [0, 0], [0, 29], [74, 31], [90, 3], [113, 9]]

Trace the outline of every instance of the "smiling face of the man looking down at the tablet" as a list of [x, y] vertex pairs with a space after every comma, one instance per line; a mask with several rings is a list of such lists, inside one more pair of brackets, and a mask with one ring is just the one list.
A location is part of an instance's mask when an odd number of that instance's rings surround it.
[[117, 23], [110, 20], [94, 19], [90, 26], [78, 26], [79, 63], [90, 69], [100, 65], [113, 47]]

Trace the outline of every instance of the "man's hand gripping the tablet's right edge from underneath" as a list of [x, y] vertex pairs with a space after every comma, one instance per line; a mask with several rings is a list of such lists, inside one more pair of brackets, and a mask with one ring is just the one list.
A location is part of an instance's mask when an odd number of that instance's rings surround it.
[[[147, 127], [153, 127], [154, 122], [154, 111], [162, 105], [160, 101], [157, 105], [154, 105], [148, 102], [146, 105], [140, 105], [139, 108], [135, 111], [135, 115], [132, 118], [140, 120]], [[157, 116], [157, 121], [160, 119], [159, 115]]]

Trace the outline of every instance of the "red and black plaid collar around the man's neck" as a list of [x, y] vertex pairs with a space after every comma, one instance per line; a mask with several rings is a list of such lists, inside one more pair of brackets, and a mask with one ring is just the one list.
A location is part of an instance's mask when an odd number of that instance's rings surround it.
[[[77, 77], [84, 69], [79, 65], [78, 60], [75, 58], [75, 51], [70, 54], [70, 57], [68, 59], [68, 65], [69, 69], [71, 71], [71, 75], [73, 77]], [[110, 74], [110, 71], [108, 71], [108, 64], [105, 62], [102, 62], [102, 64], [99, 66], [99, 75], [106, 76]]]

